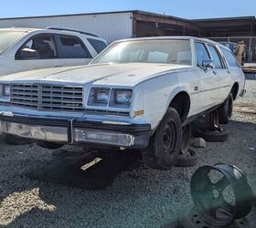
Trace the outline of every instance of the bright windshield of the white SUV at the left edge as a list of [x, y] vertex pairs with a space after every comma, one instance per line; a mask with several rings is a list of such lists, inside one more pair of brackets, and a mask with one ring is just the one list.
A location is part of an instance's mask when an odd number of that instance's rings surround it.
[[24, 32], [0, 31], [0, 54], [11, 47], [18, 39], [25, 36]]

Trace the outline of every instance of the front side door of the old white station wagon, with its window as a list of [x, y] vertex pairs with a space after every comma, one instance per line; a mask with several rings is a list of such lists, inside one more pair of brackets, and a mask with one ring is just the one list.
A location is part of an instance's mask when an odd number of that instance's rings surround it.
[[201, 103], [201, 111], [213, 107], [219, 98], [219, 79], [214, 73], [214, 69], [204, 69], [203, 61], [210, 60], [210, 55], [207, 46], [196, 41], [197, 67], [199, 68], [200, 77], [200, 98], [198, 102]]

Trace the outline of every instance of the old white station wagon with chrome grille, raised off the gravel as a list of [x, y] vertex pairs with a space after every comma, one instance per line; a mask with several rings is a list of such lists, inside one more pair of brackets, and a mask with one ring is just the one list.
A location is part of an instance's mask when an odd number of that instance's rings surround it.
[[46, 148], [141, 149], [157, 169], [176, 163], [182, 126], [211, 110], [229, 120], [244, 74], [228, 47], [186, 36], [114, 42], [89, 66], [3, 77], [1, 130]]

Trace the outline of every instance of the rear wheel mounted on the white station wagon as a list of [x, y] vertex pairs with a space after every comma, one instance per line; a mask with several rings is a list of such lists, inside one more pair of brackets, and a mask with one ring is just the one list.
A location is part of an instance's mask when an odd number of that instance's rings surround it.
[[229, 123], [229, 120], [231, 119], [232, 113], [233, 113], [233, 101], [234, 101], [234, 98], [233, 98], [232, 94], [230, 93], [229, 98], [225, 101], [223, 106], [221, 106], [218, 109], [220, 124], [228, 124]]

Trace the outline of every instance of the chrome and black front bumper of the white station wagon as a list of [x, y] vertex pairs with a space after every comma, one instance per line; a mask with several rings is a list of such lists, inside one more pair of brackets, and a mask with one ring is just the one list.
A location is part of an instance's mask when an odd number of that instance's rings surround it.
[[1, 131], [32, 140], [45, 140], [63, 144], [94, 144], [145, 148], [148, 146], [151, 125], [130, 124], [84, 119], [45, 119], [37, 117], [0, 116]]

